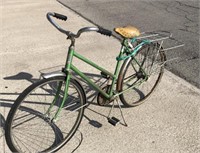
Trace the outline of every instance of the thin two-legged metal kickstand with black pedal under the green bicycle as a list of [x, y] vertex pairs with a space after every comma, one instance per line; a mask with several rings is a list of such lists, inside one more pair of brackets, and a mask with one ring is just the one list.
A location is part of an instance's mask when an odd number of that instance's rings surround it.
[[[117, 105], [118, 105], [118, 107], [119, 107], [119, 110], [120, 110], [120, 113], [121, 113], [121, 117], [122, 117], [122, 119], [123, 119], [123, 123], [120, 122], [120, 120], [119, 120], [118, 118], [116, 118], [116, 117], [111, 117], [111, 118], [110, 118], [111, 112], [112, 112], [112, 110], [114, 109], [115, 101], [117, 102]], [[112, 107], [111, 107], [111, 109], [110, 109], [110, 111], [109, 111], [109, 114], [108, 114], [107, 119], [108, 119], [108, 122], [109, 122], [110, 124], [112, 124], [113, 126], [116, 126], [117, 123], [120, 123], [120, 124], [123, 125], [123, 126], [128, 126], [128, 124], [127, 124], [126, 121], [125, 121], [125, 118], [124, 118], [124, 115], [123, 115], [123, 112], [122, 112], [122, 108], [121, 108], [121, 106], [120, 106], [120, 104], [119, 104], [118, 98], [116, 98], [116, 99], [113, 101], [113, 104], [112, 104]]]

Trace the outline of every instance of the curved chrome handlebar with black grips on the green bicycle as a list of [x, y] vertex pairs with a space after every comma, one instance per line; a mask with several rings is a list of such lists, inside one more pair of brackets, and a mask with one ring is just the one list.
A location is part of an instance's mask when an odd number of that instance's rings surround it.
[[47, 19], [48, 21], [56, 28], [58, 29], [60, 32], [66, 34], [68, 37], [74, 37], [74, 38], [78, 38], [81, 33], [83, 32], [89, 32], [89, 31], [96, 31], [100, 34], [103, 34], [103, 35], [106, 35], [106, 36], [111, 36], [112, 35], [112, 32], [110, 30], [107, 30], [107, 29], [104, 29], [104, 28], [101, 28], [101, 27], [85, 27], [85, 28], [81, 28], [77, 34], [74, 34], [72, 33], [71, 31], [66, 31], [64, 30], [63, 28], [61, 28], [52, 18], [52, 17], [55, 17], [57, 19], [60, 19], [60, 20], [64, 20], [66, 21], [67, 20], [67, 16], [65, 15], [62, 15], [62, 14], [59, 14], [59, 13], [55, 13], [55, 12], [48, 12], [47, 13]]

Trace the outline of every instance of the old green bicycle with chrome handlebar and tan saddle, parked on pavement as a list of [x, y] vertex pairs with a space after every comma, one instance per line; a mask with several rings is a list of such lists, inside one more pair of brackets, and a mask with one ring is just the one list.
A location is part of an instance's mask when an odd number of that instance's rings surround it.
[[[30, 85], [16, 99], [5, 126], [6, 142], [12, 152], [55, 152], [73, 137], [88, 104], [84, 89], [72, 72], [99, 92], [99, 105], [120, 98], [127, 107], [142, 104], [162, 78], [166, 62], [162, 44], [147, 39], [149, 36], [141, 37], [136, 28], [115, 28], [123, 41], [112, 74], [75, 51], [75, 39], [82, 33], [95, 31], [111, 36], [111, 31], [85, 27], [74, 34], [62, 29], [52, 17], [65, 21], [67, 17], [58, 13], [47, 14], [50, 23], [71, 40], [66, 64], [60, 72], [44, 74], [43, 79]], [[107, 85], [101, 88], [95, 84], [73, 65], [73, 58], [98, 69], [108, 80]], [[117, 122], [114, 117], [108, 119], [113, 125]]]

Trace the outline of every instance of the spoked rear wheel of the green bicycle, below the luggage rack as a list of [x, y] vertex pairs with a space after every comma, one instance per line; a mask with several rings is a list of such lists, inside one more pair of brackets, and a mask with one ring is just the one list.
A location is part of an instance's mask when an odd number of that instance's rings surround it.
[[157, 87], [166, 61], [164, 52], [158, 49], [158, 44], [145, 45], [134, 57], [124, 61], [117, 90], [123, 91], [129, 88], [120, 95], [120, 100], [125, 106], [142, 104]]

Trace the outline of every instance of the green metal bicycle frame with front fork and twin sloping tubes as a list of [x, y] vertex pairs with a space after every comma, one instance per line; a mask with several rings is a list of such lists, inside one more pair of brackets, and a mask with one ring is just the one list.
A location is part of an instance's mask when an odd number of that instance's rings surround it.
[[[143, 45], [143, 44], [142, 44]], [[120, 53], [118, 55], [118, 59], [123, 59], [124, 58], [124, 52], [125, 52], [125, 49], [127, 48], [127, 42], [126, 42], [126, 39], [123, 40], [122, 42], [122, 46], [121, 46], [121, 49], [120, 49]], [[137, 52], [138, 52], [139, 49], [136, 49], [134, 50], [134, 54], [132, 54], [132, 56], [134, 56]], [[87, 63], [88, 65], [91, 65], [92, 67], [98, 69], [99, 71], [103, 72], [104, 74], [108, 75], [110, 78], [111, 78], [111, 88], [109, 89], [108, 93], [103, 91], [97, 84], [95, 84], [89, 77], [87, 77], [83, 72], [81, 72], [80, 70], [78, 70], [78, 68], [76, 68], [73, 64], [72, 64], [72, 61], [73, 61], [73, 58], [76, 57], [78, 58], [79, 60]], [[140, 66], [140, 68], [142, 69], [141, 65], [139, 64], [139, 62], [133, 57], [133, 59], [136, 61], [136, 63]], [[105, 98], [107, 99], [112, 99], [112, 98], [115, 98], [117, 96], [119, 96], [120, 94], [126, 92], [127, 90], [129, 89], [132, 89], [133, 87], [135, 87], [136, 85], [142, 83], [145, 81], [142, 80], [140, 81], [139, 83], [129, 87], [128, 89], [125, 89], [119, 93], [114, 93], [114, 85], [118, 79], [118, 76], [119, 76], [119, 71], [120, 71], [120, 67], [121, 67], [121, 63], [122, 63], [123, 60], [117, 60], [117, 64], [116, 64], [116, 67], [115, 67], [115, 71], [114, 71], [114, 74], [110, 73], [109, 71], [107, 71], [106, 69], [100, 67], [99, 65], [97, 65], [96, 63], [92, 62], [91, 60], [83, 57], [82, 55], [78, 54], [75, 50], [74, 50], [74, 45], [72, 43], [72, 45], [69, 47], [68, 49], [68, 55], [67, 55], [67, 60], [66, 60], [66, 64], [65, 64], [65, 68], [64, 68], [64, 72], [66, 73], [66, 84], [65, 84], [65, 92], [64, 92], [64, 97], [63, 97], [63, 100], [62, 100], [62, 103], [61, 103], [61, 106], [59, 107], [58, 111], [56, 112], [55, 114], [55, 117], [54, 119], [56, 119], [59, 115], [59, 112], [61, 111], [61, 109], [63, 108], [64, 106], [64, 103], [67, 99], [67, 93], [68, 93], [68, 88], [69, 88], [69, 81], [70, 81], [70, 78], [71, 78], [71, 71], [75, 72], [78, 76], [80, 76], [83, 80], [85, 80], [89, 85], [91, 85], [95, 90], [97, 90], [98, 92], [100, 92]], [[142, 69], [142, 71], [144, 71]], [[147, 77], [147, 76], [145, 76]], [[60, 85], [59, 85], [60, 86]], [[58, 92], [60, 91], [60, 89], [58, 89]], [[57, 97], [58, 97], [59, 93], [56, 94], [55, 96], [55, 99], [53, 101], [53, 103], [51, 104], [48, 112], [50, 111], [51, 107], [54, 105], [54, 102], [56, 101]]]

